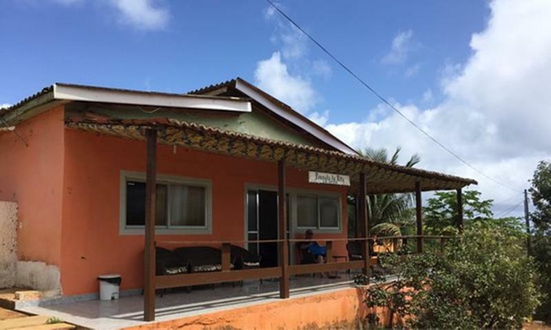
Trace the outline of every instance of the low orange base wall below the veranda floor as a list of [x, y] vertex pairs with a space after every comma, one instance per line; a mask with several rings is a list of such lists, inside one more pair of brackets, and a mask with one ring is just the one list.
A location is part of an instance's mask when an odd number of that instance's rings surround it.
[[[125, 330], [364, 329], [366, 315], [371, 312], [366, 307], [364, 299], [363, 287], [351, 287], [289, 299], [274, 299], [269, 303], [257, 303], [175, 320], [152, 322], [128, 327]], [[381, 320], [388, 319], [386, 310], [375, 309], [374, 312]]]

